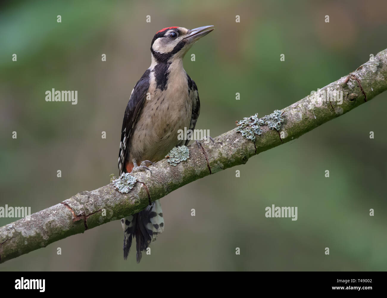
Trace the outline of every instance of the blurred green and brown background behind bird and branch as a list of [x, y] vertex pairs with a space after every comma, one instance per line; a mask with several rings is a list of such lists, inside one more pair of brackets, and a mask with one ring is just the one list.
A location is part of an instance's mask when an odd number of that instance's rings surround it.
[[[298, 101], [387, 47], [384, 0], [14, 1], [0, 7], [0, 206], [31, 206], [32, 212], [118, 173], [123, 113], [161, 28], [216, 28], [184, 59], [199, 88], [196, 128], [212, 137], [243, 117]], [[78, 104], [46, 102], [52, 88], [77, 90]], [[385, 271], [386, 99], [387, 92], [161, 199], [165, 230], [139, 265], [134, 248], [123, 260], [121, 223], [113, 221], [0, 270]], [[298, 220], [265, 218], [272, 204], [297, 206]], [[12, 221], [0, 218], [0, 225]]]

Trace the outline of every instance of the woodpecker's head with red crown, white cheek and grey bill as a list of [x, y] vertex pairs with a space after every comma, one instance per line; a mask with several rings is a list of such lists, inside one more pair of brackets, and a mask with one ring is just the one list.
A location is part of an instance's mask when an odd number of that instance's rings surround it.
[[214, 26], [203, 26], [188, 30], [183, 27], [161, 29], [152, 39], [151, 52], [157, 62], [168, 62], [171, 58], [183, 58], [191, 46], [214, 30]]

